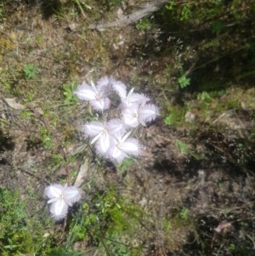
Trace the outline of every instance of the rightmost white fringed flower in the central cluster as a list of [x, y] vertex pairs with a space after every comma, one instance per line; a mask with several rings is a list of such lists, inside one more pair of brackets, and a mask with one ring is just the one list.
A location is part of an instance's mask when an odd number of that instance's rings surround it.
[[132, 105], [122, 111], [125, 124], [136, 128], [139, 124], [146, 126], [146, 122], [151, 122], [159, 116], [159, 110], [156, 105]]

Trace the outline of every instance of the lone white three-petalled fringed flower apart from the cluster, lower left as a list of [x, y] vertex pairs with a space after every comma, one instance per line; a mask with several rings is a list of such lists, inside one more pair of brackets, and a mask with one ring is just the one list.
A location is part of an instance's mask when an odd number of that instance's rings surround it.
[[55, 220], [64, 219], [68, 207], [82, 197], [81, 191], [77, 187], [59, 184], [49, 185], [45, 188], [44, 194], [49, 198], [48, 203], [51, 203], [49, 211]]

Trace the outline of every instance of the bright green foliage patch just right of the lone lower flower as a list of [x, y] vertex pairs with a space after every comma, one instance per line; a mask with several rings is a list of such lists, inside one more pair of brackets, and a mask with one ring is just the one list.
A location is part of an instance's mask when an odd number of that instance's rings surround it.
[[128, 256], [130, 254], [126, 245], [115, 241], [125, 234], [132, 236], [135, 225], [139, 223], [140, 214], [136, 205], [127, 203], [111, 187], [103, 195], [97, 194], [91, 204], [82, 204], [76, 218], [71, 222], [71, 235], [66, 247], [70, 247], [73, 242], [87, 239], [102, 245], [105, 250], [111, 250], [110, 255]]

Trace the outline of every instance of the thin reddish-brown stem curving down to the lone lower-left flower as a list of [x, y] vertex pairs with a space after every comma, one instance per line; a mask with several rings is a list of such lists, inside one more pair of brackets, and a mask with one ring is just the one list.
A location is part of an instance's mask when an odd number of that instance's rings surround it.
[[40, 121], [42, 121], [42, 123], [48, 129], [48, 131], [51, 134], [53, 134], [57, 145], [59, 145], [59, 152], [65, 161], [65, 173], [67, 175], [67, 185], [70, 186], [71, 185], [71, 174], [70, 174], [70, 169], [68, 167], [68, 161], [67, 161], [67, 156], [66, 156], [66, 152], [65, 152], [65, 147], [64, 147], [64, 145], [62, 145], [58, 134], [56, 133], [55, 129], [50, 126], [50, 123], [48, 122], [48, 120], [45, 119], [42, 116], [42, 114], [40, 114], [32, 105], [29, 104], [29, 105], [26, 105], [26, 107], [33, 113], [34, 117], [37, 117]]

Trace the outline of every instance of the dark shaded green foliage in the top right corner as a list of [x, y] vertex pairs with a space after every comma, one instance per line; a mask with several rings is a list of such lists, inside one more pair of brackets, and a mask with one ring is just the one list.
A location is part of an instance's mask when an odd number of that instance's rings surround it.
[[[246, 48], [254, 42], [254, 28], [246, 26], [253, 22], [254, 14], [254, 1], [169, 1], [156, 18], [162, 30], [170, 33], [176, 31], [184, 41], [184, 50], [181, 53], [183, 60], [190, 59], [190, 39], [196, 38], [195, 51], [200, 59], [198, 62], [203, 65], [199, 69], [195, 67], [195, 76], [190, 72], [195, 77], [192, 82], [196, 88], [201, 88], [199, 83], [207, 78], [207, 82], [202, 82], [205, 84], [202, 89], [205, 90], [214, 89], [216, 86], [223, 88], [223, 79], [230, 77], [234, 77], [235, 81], [237, 76], [238, 80], [240, 77], [254, 77], [254, 50], [251, 52]], [[166, 50], [166, 54], [167, 51], [169, 50]], [[239, 66], [237, 72], [233, 65], [229, 69], [229, 60]], [[220, 62], [224, 68], [216, 76], [209, 75], [212, 74], [215, 64]], [[212, 71], [208, 70], [211, 66], [205, 63], [213, 63]], [[189, 78], [181, 76], [178, 83], [181, 88], [185, 88], [190, 81]]]

